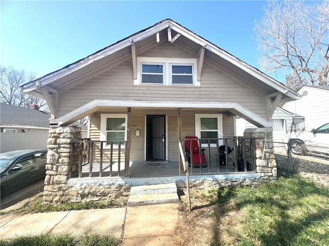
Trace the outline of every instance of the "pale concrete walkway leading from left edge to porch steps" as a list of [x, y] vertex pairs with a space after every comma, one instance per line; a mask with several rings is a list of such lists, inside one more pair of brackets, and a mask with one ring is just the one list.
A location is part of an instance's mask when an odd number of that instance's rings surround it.
[[[0, 216], [0, 237], [45, 233], [99, 233], [122, 238], [122, 246], [174, 245], [178, 203]], [[122, 237], [123, 236], [123, 237]]]

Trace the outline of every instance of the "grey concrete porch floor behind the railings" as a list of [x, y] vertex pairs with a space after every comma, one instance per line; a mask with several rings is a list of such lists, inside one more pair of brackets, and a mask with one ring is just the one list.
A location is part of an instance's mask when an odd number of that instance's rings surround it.
[[[82, 167], [82, 177], [89, 177], [89, 163]], [[138, 177], [171, 177], [179, 175], [178, 161], [144, 161], [144, 162], [131, 162], [130, 163], [130, 177], [138, 178]], [[100, 177], [100, 163], [93, 162], [93, 173], [92, 177]], [[209, 165], [207, 167], [199, 167], [193, 168], [193, 172], [191, 167], [189, 167], [189, 172], [191, 175], [193, 174], [218, 174], [218, 173], [234, 173], [235, 169], [233, 167], [233, 161], [230, 160], [228, 162], [228, 170], [226, 166], [220, 166], [217, 168], [216, 160], [211, 161], [210, 164], [210, 172]], [[113, 163], [112, 165], [112, 175], [111, 177], [124, 176], [124, 164], [120, 165], [120, 173], [118, 175], [118, 163]], [[102, 175], [101, 177], [110, 177], [110, 165], [109, 162], [103, 162], [102, 167]]]

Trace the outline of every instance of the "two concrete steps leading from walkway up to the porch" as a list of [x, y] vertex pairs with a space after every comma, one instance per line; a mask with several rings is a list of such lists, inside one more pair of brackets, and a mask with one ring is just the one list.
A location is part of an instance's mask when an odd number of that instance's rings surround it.
[[162, 185], [134, 186], [130, 190], [128, 206], [164, 204], [178, 202], [176, 183]]

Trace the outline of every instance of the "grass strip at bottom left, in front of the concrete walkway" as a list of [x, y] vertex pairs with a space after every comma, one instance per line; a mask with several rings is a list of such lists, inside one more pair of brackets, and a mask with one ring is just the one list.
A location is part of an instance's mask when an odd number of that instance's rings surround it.
[[78, 238], [70, 234], [41, 234], [0, 239], [2, 246], [118, 246], [120, 243], [121, 241], [115, 237], [98, 234], [86, 234]]

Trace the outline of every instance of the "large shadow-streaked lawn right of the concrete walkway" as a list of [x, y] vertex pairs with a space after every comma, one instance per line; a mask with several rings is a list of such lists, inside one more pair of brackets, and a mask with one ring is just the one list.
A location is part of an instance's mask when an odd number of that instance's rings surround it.
[[[206, 242], [200, 245], [329, 245], [328, 186], [318, 187], [295, 175], [252, 189], [194, 193], [194, 210], [181, 221], [187, 232], [177, 235], [184, 237], [179, 245], [198, 245], [194, 241]], [[203, 229], [191, 233], [191, 224]]]

